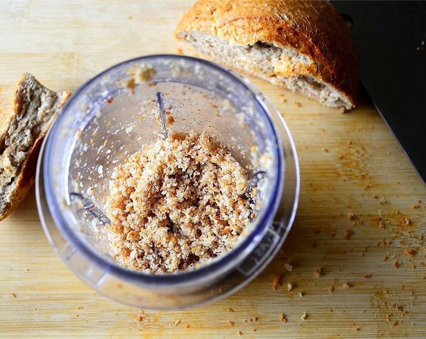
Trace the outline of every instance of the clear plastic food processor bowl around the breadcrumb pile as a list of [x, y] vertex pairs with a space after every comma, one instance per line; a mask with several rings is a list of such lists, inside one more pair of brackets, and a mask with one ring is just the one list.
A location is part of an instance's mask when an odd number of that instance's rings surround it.
[[[161, 134], [150, 119], [161, 107], [173, 114], [169, 130], [206, 131], [230, 148], [256, 179], [260, 207], [226, 255], [154, 275], [114, 260], [103, 200], [113, 168]], [[234, 293], [272, 260], [296, 214], [299, 166], [287, 126], [250, 81], [201, 59], [151, 55], [111, 67], [69, 99], [43, 144], [36, 194], [47, 238], [81, 280], [125, 304], [179, 309]]]

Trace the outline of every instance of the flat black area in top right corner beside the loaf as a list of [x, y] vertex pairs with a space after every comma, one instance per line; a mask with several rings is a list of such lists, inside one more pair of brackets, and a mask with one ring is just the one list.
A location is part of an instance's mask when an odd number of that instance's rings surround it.
[[351, 26], [361, 82], [426, 184], [426, 2], [330, 2]]

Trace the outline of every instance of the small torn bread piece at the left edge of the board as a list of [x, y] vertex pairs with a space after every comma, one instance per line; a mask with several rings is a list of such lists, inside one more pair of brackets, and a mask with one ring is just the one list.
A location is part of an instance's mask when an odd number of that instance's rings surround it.
[[48, 90], [29, 73], [21, 76], [0, 135], [0, 220], [34, 184], [41, 142], [69, 95]]

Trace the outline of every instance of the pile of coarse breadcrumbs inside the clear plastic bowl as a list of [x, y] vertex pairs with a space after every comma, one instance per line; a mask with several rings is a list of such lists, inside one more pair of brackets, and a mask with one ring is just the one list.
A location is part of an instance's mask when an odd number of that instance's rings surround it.
[[222, 255], [250, 223], [245, 170], [205, 133], [172, 133], [114, 168], [105, 210], [116, 259], [150, 273]]

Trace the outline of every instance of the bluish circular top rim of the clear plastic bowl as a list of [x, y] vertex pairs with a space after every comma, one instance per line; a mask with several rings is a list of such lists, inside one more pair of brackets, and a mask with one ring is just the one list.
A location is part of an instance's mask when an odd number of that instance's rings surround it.
[[[61, 122], [63, 121], [63, 117], [66, 116], [66, 114], [70, 110], [70, 107], [72, 107], [75, 103], [77, 103], [78, 100], [81, 98], [81, 96], [85, 95], [85, 90], [89, 85], [99, 82], [102, 77], [109, 75], [110, 73], [113, 73], [117, 68], [130, 67], [132, 64], [138, 64], [138, 63], [149, 63], [150, 61], [152, 62], [153, 59], [157, 59], [157, 58], [163, 58], [163, 59], [167, 58], [172, 61], [184, 60], [185, 62], [199, 63], [203, 67], [213, 68], [219, 73], [221, 73], [223, 76], [232, 78], [232, 80], [238, 86], [241, 86], [244, 90], [247, 91], [247, 93], [250, 93], [250, 97], [253, 99], [253, 102], [255, 103], [255, 107], [259, 110], [261, 115], [264, 117], [264, 123], [267, 125], [268, 130], [270, 131], [271, 141], [272, 141], [271, 144], [276, 145], [276, 147], [273, 149], [274, 158], [276, 159], [276, 162], [274, 164], [274, 168], [276, 170], [274, 172], [274, 177], [273, 177], [274, 187], [273, 187], [272, 194], [267, 202], [268, 206], [264, 210], [261, 217], [259, 217], [256, 226], [249, 233], [249, 235], [242, 241], [242, 243], [240, 243], [238, 246], [236, 246], [234, 249], [232, 249], [230, 252], [226, 253], [225, 255], [222, 255], [216, 258], [216, 260], [214, 260], [210, 264], [200, 265], [200, 267], [197, 267], [196, 269], [192, 269], [192, 270], [186, 270], [186, 271], [176, 272], [171, 274], [161, 274], [161, 275], [147, 274], [141, 271], [132, 271], [130, 269], [127, 269], [126, 267], [122, 267], [122, 266], [119, 266], [118, 264], [109, 262], [103, 256], [99, 255], [97, 252], [95, 252], [92, 248], [87, 246], [78, 238], [78, 236], [75, 234], [73, 229], [69, 226], [69, 223], [65, 219], [64, 215], [61, 213], [61, 208], [60, 208], [61, 197], [56, 196], [55, 191], [53, 189], [54, 183], [53, 183], [52, 172], [54, 171], [54, 169], [52, 168], [53, 164], [51, 161], [53, 156], [52, 148], [58, 137], [57, 132], [58, 132], [58, 129], [61, 127]], [[199, 58], [187, 57], [183, 55], [148, 55], [148, 56], [124, 61], [122, 63], [116, 64], [115, 66], [110, 67], [104, 72], [101, 72], [100, 74], [96, 75], [94, 78], [90, 79], [85, 84], [83, 84], [66, 102], [61, 113], [59, 114], [54, 125], [52, 126], [52, 129], [49, 133], [49, 139], [47, 140], [46, 153], [45, 153], [45, 158], [43, 163], [44, 190], [45, 190], [46, 200], [49, 206], [49, 210], [52, 214], [53, 219], [55, 220], [56, 225], [60, 229], [63, 236], [72, 244], [72, 246], [74, 246], [77, 250], [81, 251], [87, 258], [95, 262], [99, 267], [101, 267], [102, 269], [104, 269], [105, 271], [113, 275], [117, 275], [121, 278], [135, 281], [135, 282], [140, 282], [147, 285], [163, 285], [163, 286], [173, 285], [173, 284], [184, 283], [186, 281], [199, 280], [201, 278], [205, 278], [206, 275], [211, 275], [213, 272], [221, 271], [221, 269], [224, 266], [227, 266], [227, 264], [230, 261], [236, 261], [238, 259], [238, 262], [241, 262], [244, 258], [247, 257], [247, 255], [250, 254], [249, 251], [246, 251], [246, 253], [244, 253], [244, 251], [248, 249], [249, 247], [254, 248], [259, 243], [259, 241], [262, 239], [262, 236], [267, 231], [268, 226], [271, 224], [273, 217], [275, 216], [276, 210], [278, 208], [278, 205], [282, 196], [282, 190], [283, 190], [282, 186], [284, 182], [284, 167], [283, 167], [284, 158], [283, 157], [284, 157], [284, 153], [282, 150], [282, 144], [279, 138], [279, 133], [276, 130], [276, 127], [272, 121], [271, 114], [266, 109], [265, 104], [263, 104], [262, 101], [259, 101], [259, 96], [257, 96], [256, 93], [254, 93], [253, 90], [251, 90], [239, 78], [231, 74], [227, 68], [221, 67], [210, 61], [206, 61]]]

